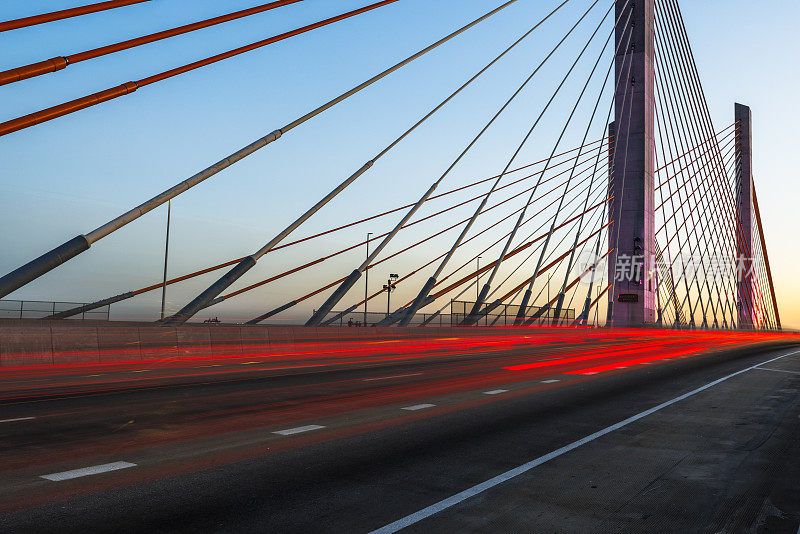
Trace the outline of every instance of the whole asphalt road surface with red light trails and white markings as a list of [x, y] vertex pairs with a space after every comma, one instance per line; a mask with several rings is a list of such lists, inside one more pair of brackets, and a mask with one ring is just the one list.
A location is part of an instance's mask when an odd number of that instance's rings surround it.
[[4, 370], [2, 532], [792, 532], [800, 348], [582, 333]]

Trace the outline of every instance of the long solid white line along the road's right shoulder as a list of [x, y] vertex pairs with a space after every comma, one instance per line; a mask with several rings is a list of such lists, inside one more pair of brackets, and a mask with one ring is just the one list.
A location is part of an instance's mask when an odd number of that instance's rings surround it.
[[753, 369], [759, 369], [759, 366], [761, 366], [761, 365], [766, 365], [768, 363], [772, 363], [772, 362], [774, 362], [776, 360], [780, 360], [780, 359], [785, 358], [787, 356], [792, 356], [792, 355], [798, 354], [798, 353], [800, 353], [800, 350], [796, 350], [794, 352], [790, 352], [788, 354], [784, 354], [782, 356], [778, 356], [776, 358], [769, 359], [769, 360], [767, 360], [765, 362], [761, 362], [761, 363], [758, 363], [756, 365], [752, 365], [750, 367], [742, 369], [741, 371], [736, 371], [735, 373], [731, 373], [731, 374], [729, 374], [727, 376], [723, 376], [722, 378], [718, 378], [717, 380], [709, 382], [708, 384], [706, 384], [704, 386], [700, 386], [699, 388], [693, 389], [692, 391], [690, 391], [688, 393], [684, 393], [683, 395], [679, 395], [679, 396], [675, 397], [672, 400], [668, 400], [666, 402], [662, 402], [661, 404], [653, 406], [652, 408], [650, 408], [648, 410], [645, 410], [645, 411], [640, 412], [640, 413], [638, 413], [636, 415], [628, 417], [627, 419], [623, 419], [622, 421], [619, 421], [618, 423], [614, 423], [611, 426], [607, 426], [606, 428], [604, 428], [602, 430], [598, 430], [597, 432], [594, 432], [593, 434], [589, 434], [588, 436], [585, 436], [585, 437], [583, 437], [583, 438], [581, 438], [581, 439], [579, 439], [577, 441], [573, 441], [572, 443], [570, 443], [568, 445], [565, 445], [565, 446], [563, 446], [563, 447], [561, 447], [559, 449], [556, 449], [556, 450], [554, 450], [552, 452], [549, 452], [549, 453], [545, 454], [544, 456], [540, 456], [540, 457], [536, 458], [535, 460], [531, 460], [530, 462], [524, 463], [524, 464], [522, 464], [520, 466], [517, 466], [517, 467], [515, 467], [513, 469], [510, 469], [510, 470], [506, 471], [505, 473], [501, 473], [501, 474], [499, 474], [499, 475], [497, 475], [497, 476], [495, 476], [493, 478], [490, 478], [489, 480], [481, 482], [480, 484], [476, 484], [476, 485], [472, 486], [471, 488], [468, 488], [468, 489], [466, 489], [466, 490], [464, 490], [464, 491], [462, 491], [460, 493], [456, 493], [455, 495], [453, 495], [451, 497], [448, 497], [446, 499], [443, 499], [443, 500], [441, 500], [441, 501], [439, 501], [439, 502], [437, 502], [435, 504], [432, 504], [432, 505], [428, 506], [427, 508], [423, 508], [422, 510], [419, 510], [418, 512], [414, 512], [413, 514], [407, 515], [407, 516], [405, 516], [405, 517], [403, 517], [401, 519], [398, 519], [397, 521], [394, 521], [393, 523], [389, 523], [388, 525], [385, 525], [383, 527], [375, 529], [372, 532], [370, 532], [370, 534], [392, 534], [394, 532], [398, 532], [398, 531], [400, 531], [400, 530], [402, 530], [402, 529], [404, 529], [406, 527], [409, 527], [411, 525], [419, 523], [423, 519], [426, 519], [426, 518], [428, 518], [428, 517], [430, 517], [432, 515], [438, 514], [439, 512], [447, 510], [448, 508], [452, 508], [453, 506], [455, 506], [455, 505], [457, 505], [457, 504], [459, 504], [461, 502], [464, 502], [467, 499], [469, 499], [471, 497], [474, 497], [475, 495], [479, 495], [479, 494], [481, 494], [481, 493], [483, 493], [483, 492], [485, 492], [485, 491], [487, 491], [487, 490], [489, 490], [489, 489], [491, 489], [491, 488], [493, 488], [493, 487], [495, 487], [495, 486], [497, 486], [499, 484], [502, 484], [503, 482], [506, 482], [508, 480], [511, 480], [512, 478], [515, 478], [515, 477], [517, 477], [519, 475], [527, 473], [531, 469], [533, 469], [535, 467], [538, 467], [538, 466], [542, 465], [545, 462], [549, 462], [550, 460], [552, 460], [554, 458], [558, 458], [559, 456], [561, 456], [563, 454], [566, 454], [566, 453], [572, 451], [573, 449], [577, 449], [578, 447], [580, 447], [582, 445], [586, 445], [587, 443], [590, 443], [590, 442], [596, 440], [599, 437], [605, 436], [606, 434], [610, 434], [611, 432], [614, 432], [615, 430], [619, 430], [620, 428], [622, 428], [624, 426], [627, 426], [627, 425], [629, 425], [629, 424], [631, 424], [631, 423], [633, 423], [635, 421], [638, 421], [639, 419], [643, 419], [644, 417], [647, 417], [648, 415], [651, 415], [651, 414], [653, 414], [653, 413], [655, 413], [655, 412], [657, 412], [659, 410], [662, 410], [662, 409], [664, 409], [664, 408], [666, 408], [668, 406], [671, 406], [671, 405], [675, 404], [676, 402], [680, 402], [680, 401], [682, 401], [684, 399], [687, 399], [689, 397], [697, 395], [698, 393], [700, 393], [702, 391], [705, 391], [705, 390], [707, 390], [709, 388], [712, 388], [712, 387], [716, 386], [717, 384], [725, 382], [726, 380], [729, 380], [729, 379], [731, 379], [731, 378], [733, 378], [735, 376], [739, 376], [742, 373], [746, 373], [747, 371], [752, 371]]

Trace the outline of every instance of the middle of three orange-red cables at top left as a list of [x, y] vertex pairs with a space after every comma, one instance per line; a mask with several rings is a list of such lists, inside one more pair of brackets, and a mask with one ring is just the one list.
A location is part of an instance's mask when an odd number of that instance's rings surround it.
[[184, 33], [189, 33], [203, 28], [208, 28], [211, 26], [215, 26], [217, 24], [230, 22], [232, 20], [240, 19], [243, 17], [249, 17], [257, 13], [263, 13], [264, 11], [269, 11], [271, 9], [282, 7], [288, 4], [296, 4], [302, 1], [303, 0], [277, 0], [275, 2], [269, 2], [248, 9], [242, 9], [240, 11], [228, 13], [227, 15], [220, 15], [218, 17], [201, 20], [199, 22], [185, 24], [177, 28], [171, 28], [169, 30], [163, 30], [160, 32], [151, 33], [149, 35], [145, 35], [142, 37], [127, 39], [119, 43], [93, 48], [91, 50], [86, 50], [84, 52], [78, 52], [76, 54], [70, 54], [68, 56], [56, 56], [54, 58], [47, 59], [44, 61], [37, 61], [36, 63], [31, 63], [30, 65], [23, 65], [22, 67], [0, 71], [0, 85], [6, 85], [9, 83], [26, 80], [28, 78], [33, 78], [35, 76], [41, 76], [43, 74], [56, 72], [81, 61], [107, 56], [115, 52], [127, 50], [129, 48], [134, 48], [137, 46], [154, 43], [156, 41], [161, 41], [169, 37], [175, 37], [176, 35], [183, 35]]

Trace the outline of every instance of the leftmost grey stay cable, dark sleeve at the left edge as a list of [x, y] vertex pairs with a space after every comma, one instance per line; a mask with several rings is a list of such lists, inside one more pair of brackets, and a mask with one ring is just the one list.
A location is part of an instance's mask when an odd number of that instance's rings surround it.
[[419, 52], [408, 56], [407, 58], [395, 63], [391, 67], [385, 69], [384, 71], [376, 74], [375, 76], [369, 78], [368, 80], [356, 85], [355, 87], [345, 91], [344, 93], [340, 94], [339, 96], [327, 101], [326, 103], [322, 104], [321, 106], [316, 107], [312, 111], [302, 115], [301, 117], [293, 120], [292, 122], [288, 123], [287, 125], [283, 126], [282, 128], [278, 128], [277, 130], [265, 135], [264, 137], [257, 139], [256, 141], [250, 143], [249, 145], [245, 146], [230, 154], [228, 157], [223, 158], [222, 160], [214, 163], [213, 165], [206, 167], [204, 170], [198, 172], [197, 174], [189, 177], [186, 180], [178, 183], [177, 185], [167, 189], [166, 191], [156, 195], [155, 197], [151, 198], [150, 200], [140, 204], [139, 206], [133, 208], [132, 210], [123, 213], [119, 217], [112, 219], [111, 221], [105, 223], [104, 225], [92, 230], [88, 234], [79, 235], [74, 237], [73, 239], [67, 241], [66, 243], [54, 248], [50, 252], [47, 252], [38, 258], [34, 259], [33, 261], [19, 267], [18, 269], [8, 273], [7, 275], [0, 278], [0, 298], [8, 295], [12, 291], [19, 289], [20, 287], [24, 286], [25, 284], [35, 280], [36, 278], [42, 276], [43, 274], [50, 272], [51, 270], [55, 269], [62, 263], [69, 261], [70, 259], [74, 258], [78, 254], [85, 252], [88, 250], [93, 243], [96, 241], [106, 237], [107, 235], [119, 230], [126, 224], [138, 219], [145, 213], [152, 211], [153, 209], [157, 208], [158, 206], [165, 204], [172, 198], [180, 195], [181, 193], [191, 189], [192, 187], [196, 186], [197, 184], [207, 180], [208, 178], [216, 175], [217, 173], [221, 172], [222, 170], [230, 167], [234, 163], [240, 161], [241, 159], [246, 158], [247, 156], [253, 154], [257, 150], [267, 146], [268, 144], [276, 141], [282, 135], [286, 134], [290, 130], [300, 126], [301, 124], [311, 120], [312, 118], [320, 115], [321, 113], [327, 111], [328, 109], [332, 108], [333, 106], [339, 104], [340, 102], [350, 98], [351, 96], [359, 93], [360, 91], [364, 90], [365, 88], [371, 86], [372, 84], [378, 82], [379, 80], [385, 78], [389, 74], [399, 70], [400, 68], [408, 65], [412, 61], [422, 57], [423, 55], [427, 54], [431, 50], [441, 46], [442, 44], [448, 42], [449, 40], [453, 39], [454, 37], [460, 35], [461, 33], [467, 31], [468, 29], [472, 28], [473, 26], [479, 24], [483, 20], [491, 17], [492, 15], [496, 14], [497, 12], [505, 9], [509, 5], [513, 4], [517, 0], [509, 0], [504, 4], [500, 5], [499, 7], [495, 8], [492, 11], [489, 11], [485, 15], [478, 17], [474, 21], [470, 22], [462, 26], [461, 28], [457, 29], [456, 31], [446, 35], [442, 39], [439, 39], [435, 43], [428, 45], [427, 47], [423, 48]]

